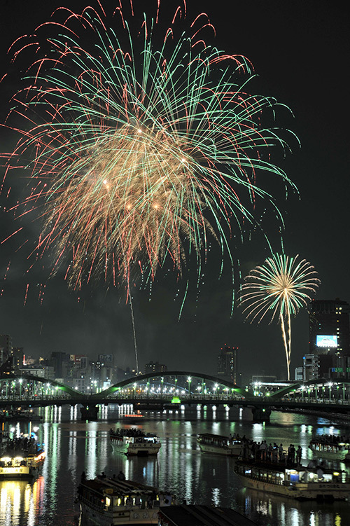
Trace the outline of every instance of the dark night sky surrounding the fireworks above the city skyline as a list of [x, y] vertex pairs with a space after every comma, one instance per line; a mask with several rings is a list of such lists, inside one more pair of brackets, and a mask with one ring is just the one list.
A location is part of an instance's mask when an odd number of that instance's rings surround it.
[[[91, 4], [91, 2], [89, 2]], [[111, 1], [109, 0], [109, 4]], [[153, 1], [143, 1], [153, 6]], [[163, 4], [167, 1], [163, 0]], [[1, 76], [8, 71], [6, 51], [12, 41], [34, 31], [48, 20], [57, 6], [79, 10], [83, 1], [51, 0], [1, 2], [0, 64]], [[228, 5], [232, 6], [228, 8]], [[146, 9], [146, 7], [145, 7]], [[279, 124], [292, 127], [302, 147], [293, 144], [293, 155], [278, 160], [300, 191], [299, 200], [290, 195], [279, 202], [286, 230], [286, 253], [300, 254], [318, 270], [321, 287], [316, 298], [350, 300], [349, 286], [349, 13], [329, 1], [258, 1], [228, 2], [206, 0], [188, 2], [188, 18], [205, 11], [216, 27], [218, 48], [242, 54], [259, 75], [253, 83], [258, 94], [272, 95], [293, 110], [295, 118]], [[167, 15], [167, 13], [164, 13]], [[14, 85], [0, 85], [1, 118], [8, 109], [7, 100]], [[1, 151], [13, 146], [9, 132], [1, 131]], [[9, 181], [13, 189], [10, 203], [25, 195], [25, 180]], [[8, 206], [6, 195], [1, 206]], [[15, 225], [10, 214], [1, 213], [1, 240]], [[13, 344], [25, 347], [27, 354], [38, 357], [53, 350], [94, 357], [97, 353], [115, 354], [120, 366], [134, 366], [134, 342], [130, 308], [123, 291], [109, 289], [97, 282], [81, 293], [69, 291], [61, 275], [48, 280], [50, 260], [45, 269], [38, 263], [27, 273], [30, 247], [40, 231], [40, 220], [25, 223], [27, 246], [18, 239], [0, 245], [0, 333], [8, 333]], [[275, 246], [277, 235], [270, 232]], [[215, 252], [215, 251], [213, 251]], [[235, 252], [246, 274], [267, 257], [262, 240], [251, 241]], [[8, 263], [9, 270], [6, 272]], [[216, 354], [227, 343], [239, 347], [239, 368], [248, 375], [284, 373], [284, 352], [279, 326], [244, 323], [235, 310], [230, 317], [230, 279], [218, 280], [219, 263], [205, 269], [204, 284], [197, 293], [190, 287], [188, 300], [178, 321], [180, 300], [176, 297], [174, 275], [159, 275], [148, 291], [137, 291], [134, 314], [139, 361], [150, 359], [169, 368], [216, 371]], [[6, 279], [5, 278], [6, 275]], [[27, 284], [27, 304], [24, 298]], [[45, 284], [43, 302], [38, 300]], [[179, 289], [183, 292], [186, 283]], [[236, 283], [236, 289], [239, 282]], [[41, 297], [41, 296], [40, 296]], [[292, 370], [308, 348], [307, 312], [293, 320]]]

